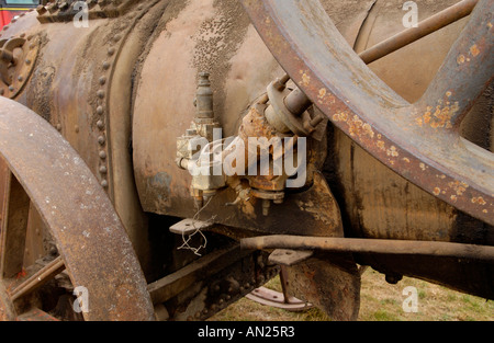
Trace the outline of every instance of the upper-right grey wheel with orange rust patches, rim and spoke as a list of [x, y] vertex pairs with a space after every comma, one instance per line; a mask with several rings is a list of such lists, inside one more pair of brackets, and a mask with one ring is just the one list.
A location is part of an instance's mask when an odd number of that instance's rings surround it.
[[423, 98], [406, 102], [344, 41], [317, 0], [242, 0], [271, 53], [351, 139], [412, 183], [494, 224], [494, 157], [460, 136], [493, 78], [494, 2], [479, 1]]

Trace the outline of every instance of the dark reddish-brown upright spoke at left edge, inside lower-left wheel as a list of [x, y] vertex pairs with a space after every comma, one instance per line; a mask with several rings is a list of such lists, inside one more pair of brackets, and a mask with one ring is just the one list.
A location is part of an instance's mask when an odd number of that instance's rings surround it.
[[0, 180], [0, 278], [10, 278], [23, 267], [30, 198], [3, 159]]

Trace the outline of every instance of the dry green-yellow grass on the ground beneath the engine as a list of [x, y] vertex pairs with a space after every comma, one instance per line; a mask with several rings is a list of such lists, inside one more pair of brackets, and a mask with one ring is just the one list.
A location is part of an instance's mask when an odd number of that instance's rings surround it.
[[[269, 288], [280, 290], [279, 278], [270, 281]], [[404, 293], [405, 287], [416, 289]], [[403, 302], [416, 295], [417, 311], [405, 312]], [[406, 302], [409, 304], [409, 302]], [[329, 321], [316, 308], [303, 312], [259, 305], [243, 298], [224, 309], [214, 321]], [[368, 268], [362, 275], [359, 321], [493, 321], [494, 301], [465, 295], [420, 279], [404, 277], [390, 285], [384, 275]]]

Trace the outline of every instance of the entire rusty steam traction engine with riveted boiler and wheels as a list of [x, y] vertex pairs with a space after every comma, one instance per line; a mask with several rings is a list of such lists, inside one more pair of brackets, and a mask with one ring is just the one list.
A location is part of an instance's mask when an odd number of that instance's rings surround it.
[[0, 318], [201, 320], [281, 272], [287, 306], [355, 320], [362, 266], [493, 299], [494, 1], [416, 1], [411, 28], [403, 2], [67, 0], [5, 26]]

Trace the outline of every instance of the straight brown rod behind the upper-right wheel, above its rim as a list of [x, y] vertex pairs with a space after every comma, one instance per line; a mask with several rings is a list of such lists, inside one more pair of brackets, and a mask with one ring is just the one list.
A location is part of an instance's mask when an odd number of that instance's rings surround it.
[[463, 0], [446, 10], [418, 23], [418, 27], [405, 30], [391, 38], [388, 38], [373, 47], [362, 52], [359, 57], [367, 64], [371, 64], [391, 53], [401, 49], [462, 18], [472, 13], [479, 0]]

